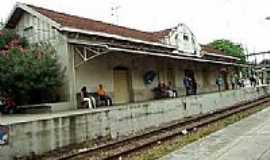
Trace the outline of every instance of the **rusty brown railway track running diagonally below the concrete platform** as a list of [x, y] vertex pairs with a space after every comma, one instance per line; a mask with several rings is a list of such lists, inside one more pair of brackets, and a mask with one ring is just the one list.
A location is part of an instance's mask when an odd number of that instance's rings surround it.
[[169, 126], [152, 130], [141, 135], [129, 137], [121, 141], [104, 144], [95, 148], [83, 149], [76, 153], [65, 154], [64, 156], [53, 158], [53, 160], [118, 160], [119, 157], [124, 157], [135, 151], [142, 150], [143, 148], [157, 145], [160, 142], [169, 140], [175, 136], [185, 135], [188, 132], [195, 131], [197, 128], [207, 126], [208, 124], [254, 108], [269, 101], [270, 98], [267, 97], [254, 102], [238, 104], [213, 113], [199, 115], [175, 122]]

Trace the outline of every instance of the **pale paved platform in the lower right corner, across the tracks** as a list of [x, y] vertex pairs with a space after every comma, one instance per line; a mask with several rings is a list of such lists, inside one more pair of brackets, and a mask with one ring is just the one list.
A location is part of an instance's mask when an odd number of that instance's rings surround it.
[[160, 160], [270, 160], [270, 108]]

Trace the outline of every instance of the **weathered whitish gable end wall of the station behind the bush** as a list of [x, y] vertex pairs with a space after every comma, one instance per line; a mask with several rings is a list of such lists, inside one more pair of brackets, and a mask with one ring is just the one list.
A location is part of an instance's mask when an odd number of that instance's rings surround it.
[[47, 21], [27, 12], [19, 20], [16, 31], [26, 37], [30, 43], [48, 42], [56, 49], [59, 63], [65, 68], [64, 86], [59, 89], [62, 101], [73, 103], [73, 56], [69, 54], [66, 36], [58, 32]]

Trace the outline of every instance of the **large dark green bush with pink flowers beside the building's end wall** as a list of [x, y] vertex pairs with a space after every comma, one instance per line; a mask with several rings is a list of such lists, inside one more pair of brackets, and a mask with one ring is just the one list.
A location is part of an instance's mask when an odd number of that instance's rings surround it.
[[54, 101], [64, 75], [54, 48], [46, 43], [29, 46], [12, 31], [2, 32], [0, 44], [0, 92], [19, 104]]

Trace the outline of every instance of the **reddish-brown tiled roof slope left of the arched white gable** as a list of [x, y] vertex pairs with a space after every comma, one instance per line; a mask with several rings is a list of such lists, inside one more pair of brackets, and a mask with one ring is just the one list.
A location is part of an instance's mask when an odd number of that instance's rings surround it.
[[86, 31], [102, 32], [113, 35], [119, 35], [128, 38], [134, 38], [143, 41], [161, 43], [161, 39], [167, 36], [170, 29], [158, 31], [158, 32], [144, 32], [136, 29], [131, 29], [123, 26], [117, 26], [102, 21], [96, 21], [88, 18], [82, 18], [66, 13], [60, 13], [57, 11], [36, 7], [33, 5], [27, 5], [33, 8], [42, 15], [54, 20], [65, 27], [71, 27], [76, 29], [82, 29]]

